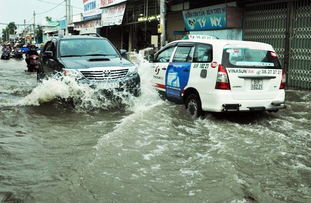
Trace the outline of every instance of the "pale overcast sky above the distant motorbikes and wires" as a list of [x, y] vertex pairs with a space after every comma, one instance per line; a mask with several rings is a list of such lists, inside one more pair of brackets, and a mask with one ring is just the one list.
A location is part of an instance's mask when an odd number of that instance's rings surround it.
[[[34, 19], [32, 19], [34, 17], [34, 11], [36, 13], [36, 25], [40, 23], [42, 19], [45, 19], [46, 16], [52, 17], [52, 20], [65, 19], [66, 4], [63, 1], [64, 0], [0, 0], [0, 23], [15, 22], [15, 24], [22, 24], [19, 29], [19, 31], [21, 31], [24, 28], [24, 19], [26, 20], [26, 24], [34, 23]], [[70, 1], [72, 6], [77, 7], [73, 8], [73, 15], [83, 13], [83, 0]], [[61, 2], [63, 3], [57, 6]], [[54, 8], [55, 6], [57, 7]], [[50, 9], [52, 10], [49, 11]], [[7, 25], [0, 24], [0, 36], [2, 35], [2, 29], [4, 29], [6, 26]]]

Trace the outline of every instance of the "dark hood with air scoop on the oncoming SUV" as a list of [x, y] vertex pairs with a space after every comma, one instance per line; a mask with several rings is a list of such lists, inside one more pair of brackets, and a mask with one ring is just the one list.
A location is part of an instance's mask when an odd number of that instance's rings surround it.
[[[95, 61], [93, 61], [95, 60]], [[103, 61], [98, 61], [103, 60]], [[129, 67], [134, 66], [130, 61], [115, 56], [89, 56], [89, 57], [63, 57], [60, 61], [65, 65], [65, 68], [81, 69], [95, 67]]]

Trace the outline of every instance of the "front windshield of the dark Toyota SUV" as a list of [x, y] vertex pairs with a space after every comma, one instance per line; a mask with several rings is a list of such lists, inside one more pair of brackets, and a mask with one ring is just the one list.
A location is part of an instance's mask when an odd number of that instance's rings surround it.
[[61, 57], [69, 56], [119, 56], [116, 49], [108, 40], [100, 39], [63, 39], [59, 41], [59, 53]]

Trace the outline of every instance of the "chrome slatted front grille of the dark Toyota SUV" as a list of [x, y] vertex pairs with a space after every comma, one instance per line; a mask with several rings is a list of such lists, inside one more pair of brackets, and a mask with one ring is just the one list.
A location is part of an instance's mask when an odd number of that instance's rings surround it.
[[[126, 77], [128, 69], [121, 70], [95, 70], [95, 71], [86, 71], [80, 70], [80, 72], [86, 77], [86, 80], [91, 81], [112, 81], [120, 80]], [[110, 72], [110, 74], [109, 74]]]

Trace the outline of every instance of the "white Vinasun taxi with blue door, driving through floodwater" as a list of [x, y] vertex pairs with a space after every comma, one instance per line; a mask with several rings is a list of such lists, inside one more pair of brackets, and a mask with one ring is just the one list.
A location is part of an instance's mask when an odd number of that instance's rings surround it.
[[269, 44], [187, 35], [148, 61], [159, 93], [191, 115], [286, 108], [285, 74]]

